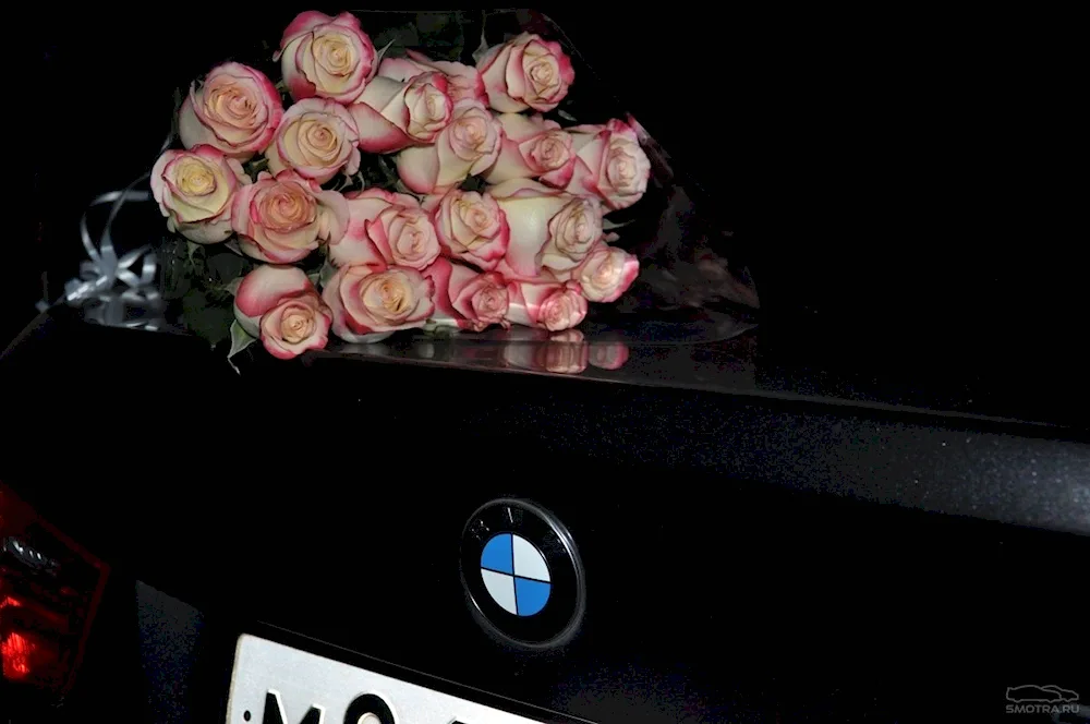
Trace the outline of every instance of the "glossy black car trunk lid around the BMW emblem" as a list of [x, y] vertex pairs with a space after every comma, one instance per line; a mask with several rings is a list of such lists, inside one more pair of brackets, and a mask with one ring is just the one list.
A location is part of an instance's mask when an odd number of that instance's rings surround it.
[[[656, 724], [908, 721], [955, 695], [979, 713], [1077, 671], [1057, 631], [1081, 620], [1088, 539], [1034, 529], [1087, 530], [1090, 452], [1071, 431], [324, 358], [240, 381], [192, 342], [32, 331], [3, 362], [34, 394], [10, 408], [19, 455], [0, 474], [196, 605], [216, 640], [267, 622], [570, 716]], [[146, 412], [104, 412], [137, 399]], [[392, 456], [412, 484], [383, 482]], [[506, 648], [467, 611], [462, 527], [505, 495], [579, 545], [586, 615], [561, 650]], [[229, 654], [194, 666], [211, 711]], [[972, 681], [950, 678], [964, 668]]]

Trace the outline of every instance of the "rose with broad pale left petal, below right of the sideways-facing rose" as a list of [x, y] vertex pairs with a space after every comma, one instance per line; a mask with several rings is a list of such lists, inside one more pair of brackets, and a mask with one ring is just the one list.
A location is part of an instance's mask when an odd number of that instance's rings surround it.
[[398, 176], [416, 193], [445, 193], [496, 162], [502, 140], [504, 129], [487, 108], [475, 100], [459, 100], [453, 120], [435, 145], [398, 154]]

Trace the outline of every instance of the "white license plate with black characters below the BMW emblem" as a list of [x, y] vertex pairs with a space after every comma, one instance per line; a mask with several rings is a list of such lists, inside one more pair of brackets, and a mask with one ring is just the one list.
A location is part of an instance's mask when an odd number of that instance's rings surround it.
[[250, 635], [239, 638], [227, 722], [540, 724]]

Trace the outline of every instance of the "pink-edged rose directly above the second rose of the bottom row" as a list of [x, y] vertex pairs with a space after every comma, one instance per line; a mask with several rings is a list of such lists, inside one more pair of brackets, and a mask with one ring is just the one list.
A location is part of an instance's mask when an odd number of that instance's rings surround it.
[[415, 197], [367, 189], [350, 194], [347, 203], [348, 231], [329, 244], [335, 266], [382, 262], [420, 270], [439, 256], [432, 217]]

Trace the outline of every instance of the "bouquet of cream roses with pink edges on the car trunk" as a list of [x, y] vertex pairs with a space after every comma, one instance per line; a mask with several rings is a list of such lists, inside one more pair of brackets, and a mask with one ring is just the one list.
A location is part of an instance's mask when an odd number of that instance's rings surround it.
[[[574, 81], [560, 45], [523, 33], [475, 68], [383, 55], [354, 15], [304, 12], [274, 57], [283, 96], [228, 62], [182, 101], [184, 148], [152, 190], [170, 231], [256, 263], [231, 285], [232, 353], [261, 339], [290, 359], [330, 330], [559, 331], [617, 300], [639, 263], [603, 215], [640, 200], [651, 166], [634, 123], [544, 116]], [[368, 184], [368, 162], [386, 178]]]

